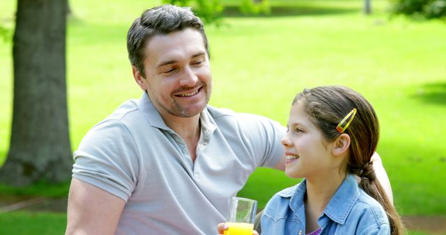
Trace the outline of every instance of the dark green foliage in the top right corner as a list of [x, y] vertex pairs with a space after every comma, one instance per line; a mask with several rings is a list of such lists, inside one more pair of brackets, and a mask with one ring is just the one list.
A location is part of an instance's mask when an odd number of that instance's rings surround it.
[[446, 19], [446, 0], [395, 0], [393, 12], [426, 19]]

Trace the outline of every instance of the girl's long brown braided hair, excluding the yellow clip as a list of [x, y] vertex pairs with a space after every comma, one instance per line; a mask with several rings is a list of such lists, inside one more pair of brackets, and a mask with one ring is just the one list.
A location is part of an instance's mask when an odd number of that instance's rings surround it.
[[376, 179], [373, 162], [370, 161], [378, 144], [379, 123], [367, 99], [344, 86], [320, 86], [303, 90], [295, 97], [293, 104], [296, 102], [305, 107], [312, 122], [321, 129], [325, 140], [329, 142], [341, 135], [336, 130], [337, 124], [353, 108], [357, 109], [353, 121], [344, 131], [351, 138], [346, 170], [359, 176], [360, 188], [383, 206], [389, 218], [391, 234], [404, 234], [401, 217]]

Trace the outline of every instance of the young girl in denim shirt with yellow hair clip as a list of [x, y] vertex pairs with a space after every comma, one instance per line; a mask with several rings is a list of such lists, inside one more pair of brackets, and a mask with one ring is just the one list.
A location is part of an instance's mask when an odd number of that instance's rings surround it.
[[305, 89], [287, 126], [286, 175], [305, 179], [268, 202], [262, 235], [404, 234], [370, 161], [378, 118], [362, 95], [342, 86]]

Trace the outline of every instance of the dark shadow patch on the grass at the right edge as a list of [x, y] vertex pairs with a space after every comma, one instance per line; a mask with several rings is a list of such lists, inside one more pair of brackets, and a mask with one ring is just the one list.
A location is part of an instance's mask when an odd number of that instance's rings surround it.
[[426, 83], [417, 88], [411, 97], [426, 103], [446, 105], [446, 81]]

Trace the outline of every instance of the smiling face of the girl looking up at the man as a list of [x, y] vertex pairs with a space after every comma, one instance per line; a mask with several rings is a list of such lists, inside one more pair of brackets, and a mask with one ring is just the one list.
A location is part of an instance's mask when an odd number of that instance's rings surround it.
[[332, 156], [333, 143], [323, 138], [321, 130], [313, 124], [300, 102], [291, 106], [287, 127], [282, 145], [288, 177], [309, 179], [339, 170], [339, 162]]

